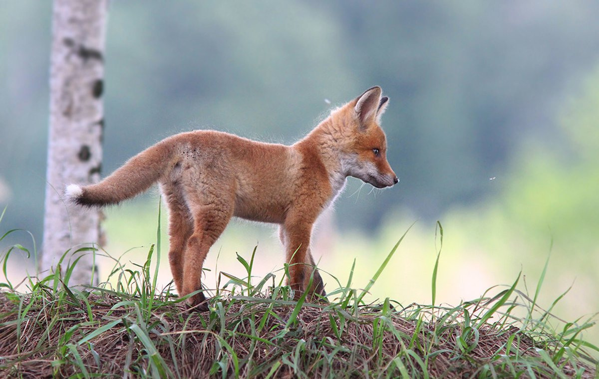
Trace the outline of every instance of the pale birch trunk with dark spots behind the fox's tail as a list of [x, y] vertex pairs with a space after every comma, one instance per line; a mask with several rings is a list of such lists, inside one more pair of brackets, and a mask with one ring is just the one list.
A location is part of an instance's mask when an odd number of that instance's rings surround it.
[[[65, 251], [101, 242], [102, 213], [62, 201], [66, 184], [99, 180], [104, 110], [104, 41], [107, 0], [55, 0], [50, 56], [50, 132], [48, 143], [44, 241], [40, 268], [56, 268]], [[93, 255], [79, 260], [70, 284], [97, 283]]]

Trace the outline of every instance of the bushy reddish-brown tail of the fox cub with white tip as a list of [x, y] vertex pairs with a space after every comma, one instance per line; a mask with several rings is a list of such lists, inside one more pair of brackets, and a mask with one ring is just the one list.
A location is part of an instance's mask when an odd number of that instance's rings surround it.
[[96, 184], [66, 186], [70, 201], [87, 207], [117, 204], [147, 190], [164, 175], [171, 163], [172, 148], [164, 141], [129, 159], [110, 176]]

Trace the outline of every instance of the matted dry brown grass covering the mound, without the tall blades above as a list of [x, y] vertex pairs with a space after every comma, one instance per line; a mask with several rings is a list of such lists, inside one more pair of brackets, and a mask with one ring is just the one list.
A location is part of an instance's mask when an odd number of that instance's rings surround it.
[[360, 307], [356, 316], [304, 304], [290, 323], [291, 301], [232, 298], [189, 313], [157, 298], [146, 314], [131, 298], [73, 294], [2, 294], [1, 377], [595, 377], [573, 359], [556, 371], [539, 354], [547, 341], [513, 326], [484, 325], [462, 351], [463, 320], [424, 322], [416, 305]]

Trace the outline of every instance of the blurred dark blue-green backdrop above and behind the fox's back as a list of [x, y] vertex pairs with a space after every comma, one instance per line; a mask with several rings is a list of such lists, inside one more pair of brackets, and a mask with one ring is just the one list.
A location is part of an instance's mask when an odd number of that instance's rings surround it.
[[[595, 2], [541, 0], [113, 1], [104, 174], [189, 129], [291, 143], [329, 107], [379, 84], [391, 97], [383, 128], [401, 183], [375, 198], [350, 180], [338, 220], [372, 231], [389, 210], [437, 219], [497, 194], [500, 180], [489, 178], [522, 145], [563, 142], [555, 110], [597, 63], [598, 11]], [[36, 236], [50, 16], [49, 2], [0, 5], [0, 183], [12, 193], [0, 202], [10, 205], [8, 225]], [[547, 162], [522, 159], [530, 169]]]

